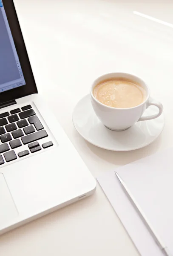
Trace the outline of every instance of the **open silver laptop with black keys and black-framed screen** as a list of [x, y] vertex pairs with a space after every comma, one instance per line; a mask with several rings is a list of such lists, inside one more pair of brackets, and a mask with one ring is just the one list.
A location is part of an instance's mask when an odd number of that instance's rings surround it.
[[37, 87], [13, 0], [0, 0], [0, 234], [94, 193]]

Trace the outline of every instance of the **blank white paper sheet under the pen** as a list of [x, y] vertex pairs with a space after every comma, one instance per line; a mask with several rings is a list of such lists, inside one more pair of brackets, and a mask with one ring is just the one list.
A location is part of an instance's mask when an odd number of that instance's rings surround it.
[[[114, 173], [97, 177], [142, 256], [163, 256]], [[164, 244], [173, 253], [173, 148], [116, 169]]]

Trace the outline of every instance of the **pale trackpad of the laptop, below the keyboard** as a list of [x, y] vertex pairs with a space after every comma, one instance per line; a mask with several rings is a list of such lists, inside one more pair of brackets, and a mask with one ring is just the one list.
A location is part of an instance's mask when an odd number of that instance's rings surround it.
[[17, 215], [18, 212], [9, 192], [6, 180], [3, 174], [0, 173], [0, 226]]

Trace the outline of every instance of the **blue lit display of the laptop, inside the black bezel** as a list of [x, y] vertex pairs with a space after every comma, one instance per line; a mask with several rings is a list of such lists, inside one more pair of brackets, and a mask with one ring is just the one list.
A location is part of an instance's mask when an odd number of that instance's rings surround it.
[[0, 0], [0, 93], [25, 84], [6, 12]]

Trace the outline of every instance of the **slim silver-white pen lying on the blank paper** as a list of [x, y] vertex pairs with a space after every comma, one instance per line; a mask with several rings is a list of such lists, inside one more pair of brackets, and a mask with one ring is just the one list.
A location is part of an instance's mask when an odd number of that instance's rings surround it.
[[138, 212], [140, 218], [144, 222], [145, 226], [147, 227], [148, 231], [150, 232], [151, 236], [153, 237], [156, 244], [159, 246], [159, 248], [162, 250], [164, 255], [166, 256], [172, 256], [172, 254], [169, 252], [167, 246], [161, 241], [161, 239], [157, 236], [156, 232], [154, 231], [153, 227], [150, 225], [149, 221], [147, 220], [144, 212], [142, 212], [142, 209], [140, 208], [139, 204], [136, 202], [133, 195], [130, 193], [129, 189], [127, 188], [125, 182], [122, 180], [122, 178], [119, 176], [117, 172], [115, 172], [116, 177], [119, 180], [119, 183], [121, 184], [122, 188], [124, 189], [126, 195], [128, 196], [130, 202], [133, 204], [133, 207]]

